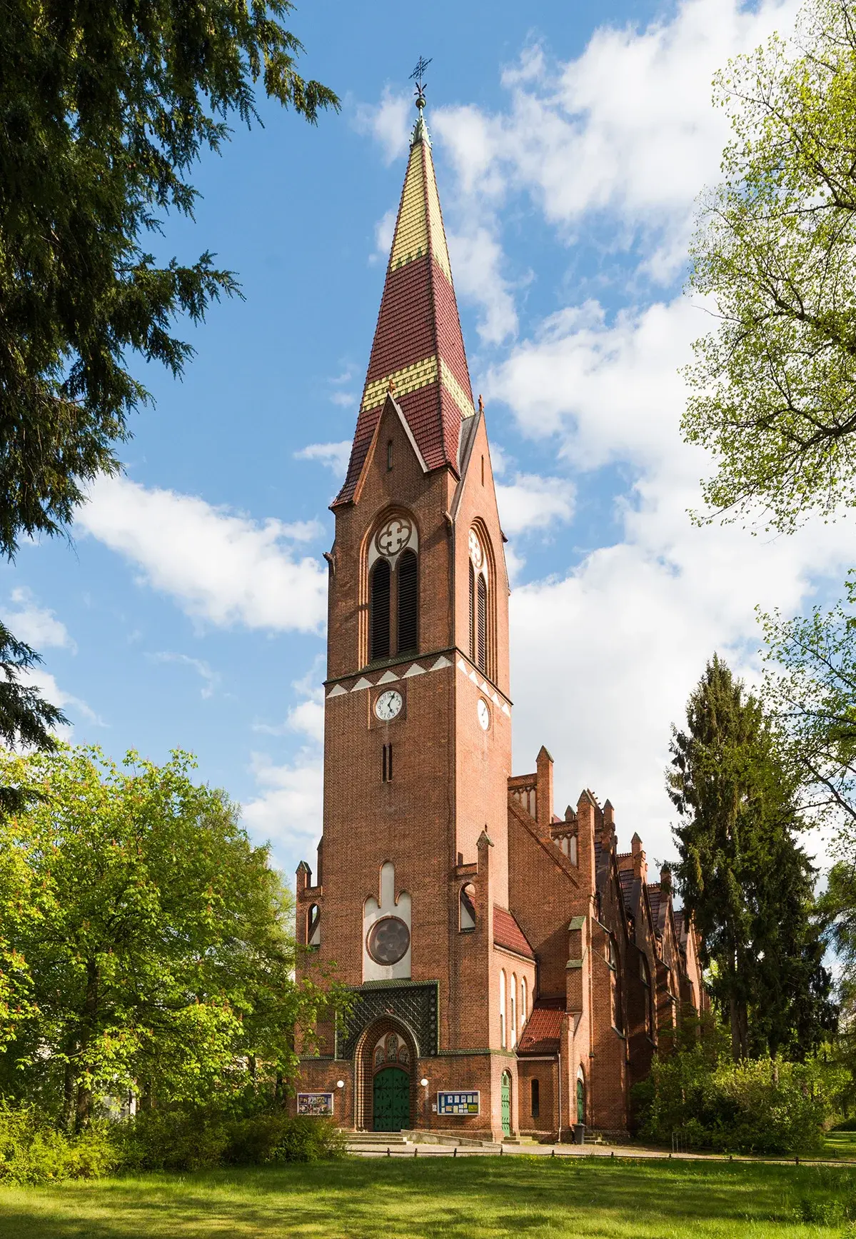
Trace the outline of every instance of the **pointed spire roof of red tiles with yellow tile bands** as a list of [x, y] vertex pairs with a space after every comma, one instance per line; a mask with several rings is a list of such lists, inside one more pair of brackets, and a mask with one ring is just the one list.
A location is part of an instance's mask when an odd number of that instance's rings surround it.
[[[417, 100], [417, 107], [425, 100]], [[460, 472], [461, 426], [474, 414], [452, 269], [421, 112], [408, 172], [351, 461], [333, 508], [354, 498], [387, 394], [395, 398], [429, 470]]]

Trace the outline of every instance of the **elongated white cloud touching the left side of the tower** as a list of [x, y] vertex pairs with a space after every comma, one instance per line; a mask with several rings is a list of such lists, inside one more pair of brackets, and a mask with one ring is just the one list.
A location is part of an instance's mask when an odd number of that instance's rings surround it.
[[323, 626], [327, 572], [294, 550], [294, 543], [318, 536], [317, 522], [259, 523], [121, 477], [97, 482], [77, 520], [187, 615], [224, 627], [318, 632]]

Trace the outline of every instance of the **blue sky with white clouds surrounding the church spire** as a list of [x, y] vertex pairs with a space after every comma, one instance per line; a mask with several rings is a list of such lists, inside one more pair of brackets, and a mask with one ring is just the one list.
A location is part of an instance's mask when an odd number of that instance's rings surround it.
[[212, 250], [244, 300], [180, 323], [182, 382], [152, 394], [71, 541], [26, 544], [0, 613], [45, 664], [66, 735], [120, 760], [191, 750], [284, 872], [313, 860], [328, 503], [368, 364], [414, 119], [427, 123], [473, 390], [483, 393], [512, 571], [514, 773], [555, 758], [619, 845], [674, 854], [670, 726], [715, 650], [757, 679], [756, 607], [840, 590], [845, 522], [790, 538], [697, 528], [711, 468], [681, 442], [680, 367], [711, 328], [684, 292], [694, 202], [727, 118], [711, 78], [793, 0], [304, 2], [301, 71], [333, 87], [317, 128], [260, 100], [193, 177], [159, 255]]

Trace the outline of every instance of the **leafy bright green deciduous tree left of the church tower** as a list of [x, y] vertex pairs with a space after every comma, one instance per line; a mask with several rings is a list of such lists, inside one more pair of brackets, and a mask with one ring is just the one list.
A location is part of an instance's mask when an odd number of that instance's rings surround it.
[[342, 1001], [334, 984], [295, 983], [268, 847], [191, 771], [181, 752], [162, 767], [68, 746], [0, 758], [7, 782], [41, 793], [0, 823], [16, 961], [0, 1079], [68, 1129], [126, 1089], [144, 1105], [273, 1094], [294, 1074], [295, 1028], [311, 1046]]

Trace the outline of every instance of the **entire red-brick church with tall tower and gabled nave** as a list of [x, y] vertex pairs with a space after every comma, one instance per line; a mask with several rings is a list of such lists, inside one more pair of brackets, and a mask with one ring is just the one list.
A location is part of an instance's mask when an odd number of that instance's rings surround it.
[[670, 875], [552, 758], [512, 776], [508, 575], [417, 99], [344, 484], [332, 504], [323, 835], [297, 870], [307, 975], [353, 1011], [297, 1110], [346, 1129], [626, 1132], [629, 1089], [704, 1002]]

